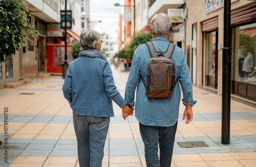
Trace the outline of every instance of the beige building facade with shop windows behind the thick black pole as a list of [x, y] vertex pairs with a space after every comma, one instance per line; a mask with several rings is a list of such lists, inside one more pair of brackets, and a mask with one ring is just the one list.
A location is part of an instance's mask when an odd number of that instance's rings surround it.
[[[186, 57], [193, 84], [222, 94], [222, 0], [186, 1]], [[256, 3], [231, 0], [231, 96], [256, 102]]]

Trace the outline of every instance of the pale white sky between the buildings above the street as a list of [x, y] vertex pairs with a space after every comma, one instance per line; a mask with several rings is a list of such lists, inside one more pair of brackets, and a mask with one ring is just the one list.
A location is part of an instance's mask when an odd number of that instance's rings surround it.
[[90, 20], [98, 22], [94, 29], [100, 34], [108, 34], [109, 37], [118, 37], [119, 15], [123, 13], [123, 7], [115, 7], [116, 3], [123, 4], [123, 0], [90, 0]]

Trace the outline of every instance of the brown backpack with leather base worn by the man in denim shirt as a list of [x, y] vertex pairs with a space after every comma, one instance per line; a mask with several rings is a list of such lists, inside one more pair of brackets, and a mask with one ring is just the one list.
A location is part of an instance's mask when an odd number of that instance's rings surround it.
[[142, 78], [149, 98], [169, 98], [176, 86], [175, 65], [170, 60], [175, 44], [169, 43], [165, 53], [157, 52], [152, 42], [146, 42], [151, 59], [147, 67], [146, 84]]

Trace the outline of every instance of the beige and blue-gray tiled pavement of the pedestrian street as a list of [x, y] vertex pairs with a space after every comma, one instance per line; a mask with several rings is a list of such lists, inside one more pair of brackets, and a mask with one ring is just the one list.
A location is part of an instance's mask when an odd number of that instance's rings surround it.
[[[113, 75], [123, 96], [129, 73], [113, 69]], [[61, 76], [51, 76], [0, 90], [1, 167], [79, 166], [72, 110], [63, 98], [62, 84]], [[231, 100], [230, 144], [222, 145], [221, 96], [194, 88], [194, 98], [198, 102], [193, 107], [193, 122], [188, 125], [181, 120], [184, 106], [180, 105], [172, 167], [256, 166], [256, 108]], [[8, 115], [4, 115], [5, 107]], [[102, 166], [146, 166], [136, 118], [124, 121], [116, 104], [114, 110]], [[8, 121], [6, 129], [4, 118]], [[209, 147], [180, 148], [177, 144], [195, 141]]]

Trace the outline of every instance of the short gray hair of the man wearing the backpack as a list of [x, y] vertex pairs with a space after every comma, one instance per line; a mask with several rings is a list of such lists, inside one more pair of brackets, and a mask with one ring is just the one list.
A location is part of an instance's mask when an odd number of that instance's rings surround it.
[[154, 36], [166, 37], [172, 20], [165, 13], [156, 14], [150, 22], [150, 27]]

